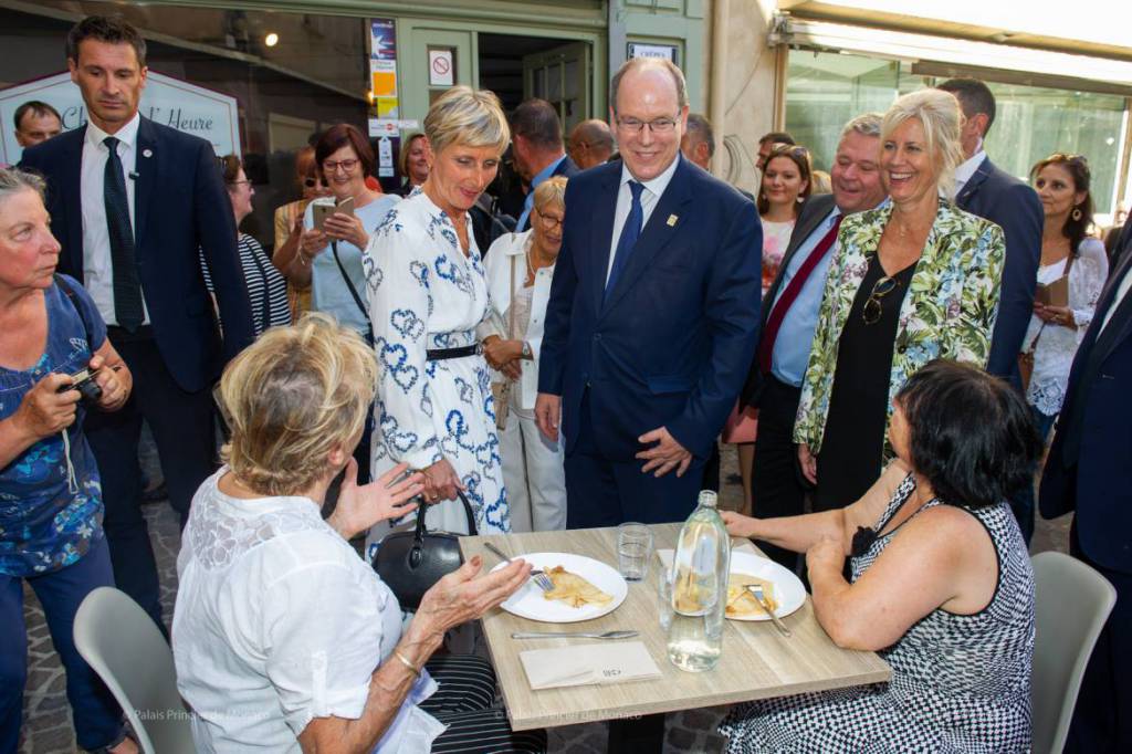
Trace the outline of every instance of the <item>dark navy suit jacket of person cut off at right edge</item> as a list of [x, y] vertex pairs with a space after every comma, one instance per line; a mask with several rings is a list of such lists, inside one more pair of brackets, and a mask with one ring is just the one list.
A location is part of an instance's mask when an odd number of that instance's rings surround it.
[[[1132, 293], [1098, 337], [1120, 283], [1129, 274], [1132, 255], [1121, 259], [1109, 276], [1073, 359], [1039, 499], [1047, 519], [1077, 512], [1078, 540], [1092, 562], [1132, 574]], [[1082, 380], [1087, 382], [1079, 385]], [[1065, 435], [1074, 421], [1081, 422], [1075, 463], [1064, 452]]]

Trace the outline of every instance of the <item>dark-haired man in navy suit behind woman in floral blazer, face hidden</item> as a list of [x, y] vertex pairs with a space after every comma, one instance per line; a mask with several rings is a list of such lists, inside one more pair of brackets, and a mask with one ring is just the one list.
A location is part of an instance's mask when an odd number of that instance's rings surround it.
[[1034, 315], [1045, 214], [1034, 189], [1000, 170], [983, 151], [983, 140], [995, 117], [994, 95], [987, 85], [974, 78], [953, 78], [940, 88], [959, 100], [967, 119], [961, 135], [967, 161], [955, 170], [955, 204], [960, 209], [995, 223], [1006, 237], [998, 319], [990, 341], [987, 371], [1021, 386], [1018, 354]]

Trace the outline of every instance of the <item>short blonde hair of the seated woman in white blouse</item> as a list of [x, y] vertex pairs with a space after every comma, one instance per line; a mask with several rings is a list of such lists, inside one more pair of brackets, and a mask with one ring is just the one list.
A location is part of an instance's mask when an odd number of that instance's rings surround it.
[[335, 446], [353, 451], [376, 386], [374, 349], [331, 317], [272, 327], [224, 369], [232, 439], [221, 457], [260, 495], [301, 492], [326, 474]]

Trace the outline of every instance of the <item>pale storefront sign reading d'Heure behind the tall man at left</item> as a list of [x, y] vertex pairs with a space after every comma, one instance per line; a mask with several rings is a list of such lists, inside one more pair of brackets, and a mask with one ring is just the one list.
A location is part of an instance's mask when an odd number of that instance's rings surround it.
[[[46, 102], [58, 110], [65, 131], [86, 123], [83, 95], [66, 71], [0, 91], [0, 162], [19, 162], [23, 148], [16, 143], [12, 117], [28, 100]], [[151, 70], [138, 110], [154, 122], [206, 139], [218, 155], [240, 154], [235, 97]]]

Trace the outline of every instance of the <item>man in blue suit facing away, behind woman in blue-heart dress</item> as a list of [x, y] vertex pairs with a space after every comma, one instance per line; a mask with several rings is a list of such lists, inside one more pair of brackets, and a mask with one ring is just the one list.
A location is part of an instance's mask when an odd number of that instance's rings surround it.
[[534, 97], [515, 108], [511, 115], [511, 144], [515, 170], [531, 187], [515, 224], [515, 232], [522, 233], [531, 228], [531, 207], [539, 183], [555, 175], [573, 178], [578, 169], [563, 145], [558, 111], [546, 100]]

